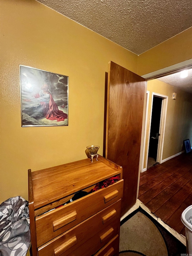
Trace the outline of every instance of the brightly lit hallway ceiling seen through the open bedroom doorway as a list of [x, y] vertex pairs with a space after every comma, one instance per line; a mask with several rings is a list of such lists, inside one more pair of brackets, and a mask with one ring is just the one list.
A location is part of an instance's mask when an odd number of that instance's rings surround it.
[[192, 93], [192, 69], [188, 70], [188, 77], [181, 78], [180, 75], [181, 72], [158, 78], [158, 80]]

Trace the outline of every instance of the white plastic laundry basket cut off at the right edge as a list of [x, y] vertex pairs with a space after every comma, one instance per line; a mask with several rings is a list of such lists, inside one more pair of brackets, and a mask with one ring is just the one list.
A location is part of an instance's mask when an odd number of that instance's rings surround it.
[[186, 247], [188, 255], [192, 255], [192, 205], [187, 207], [181, 215], [186, 230]]

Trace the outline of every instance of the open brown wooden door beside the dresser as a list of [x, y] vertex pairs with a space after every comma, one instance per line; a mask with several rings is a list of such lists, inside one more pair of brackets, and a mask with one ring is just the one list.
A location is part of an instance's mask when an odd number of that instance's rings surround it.
[[122, 213], [136, 202], [146, 81], [109, 62], [106, 158], [123, 167]]

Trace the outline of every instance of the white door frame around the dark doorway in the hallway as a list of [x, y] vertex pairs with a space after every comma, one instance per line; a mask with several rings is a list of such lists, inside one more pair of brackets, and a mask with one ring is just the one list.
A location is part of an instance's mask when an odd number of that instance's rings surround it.
[[[151, 111], [150, 111], [150, 121], [149, 121], [149, 133], [148, 133], [148, 143], [147, 143], [147, 154], [149, 153], [149, 140], [150, 140], [150, 131], [151, 131], [151, 122], [152, 122], [152, 108], [153, 108], [153, 96], [162, 98], [162, 105], [161, 105], [161, 118], [160, 118], [160, 139], [158, 142], [158, 151], [157, 151], [157, 162], [160, 164], [162, 163], [162, 156], [163, 156], [163, 145], [164, 145], [164, 136], [165, 136], [165, 123], [166, 123], [166, 116], [167, 116], [167, 104], [168, 104], [168, 96], [163, 95], [160, 93], [152, 92], [152, 101], [151, 101]], [[146, 157], [146, 170], [147, 170], [147, 162], [148, 157]]]

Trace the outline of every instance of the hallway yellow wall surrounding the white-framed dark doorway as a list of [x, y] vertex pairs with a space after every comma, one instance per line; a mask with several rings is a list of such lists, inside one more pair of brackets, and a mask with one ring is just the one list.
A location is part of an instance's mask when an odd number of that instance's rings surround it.
[[[192, 142], [192, 95], [157, 79], [147, 82], [147, 90], [150, 94], [146, 134], [149, 134], [152, 92], [168, 96], [162, 157], [162, 160], [164, 160], [184, 150], [182, 147], [183, 140], [190, 139], [190, 142]], [[172, 99], [173, 92], [177, 93], [176, 100]], [[148, 136], [146, 138], [146, 148], [147, 145]], [[145, 152], [144, 163], [146, 157], [147, 152]], [[144, 168], [146, 168], [145, 164]]]

